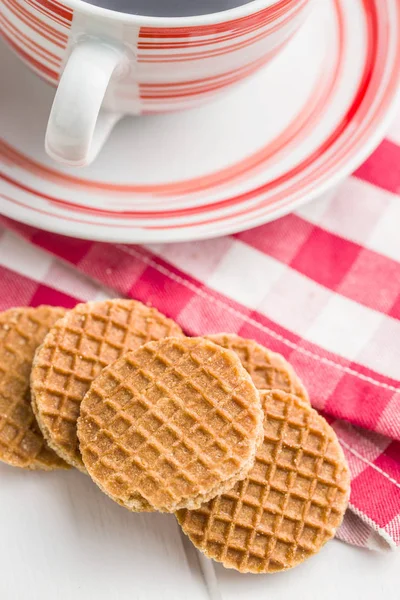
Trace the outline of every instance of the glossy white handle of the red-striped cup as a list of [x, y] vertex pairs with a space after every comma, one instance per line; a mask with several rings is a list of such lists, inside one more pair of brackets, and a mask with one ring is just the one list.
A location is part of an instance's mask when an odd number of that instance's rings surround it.
[[47, 154], [65, 165], [83, 167], [101, 150], [123, 116], [101, 109], [110, 79], [124, 51], [96, 40], [79, 42], [62, 74], [47, 125]]

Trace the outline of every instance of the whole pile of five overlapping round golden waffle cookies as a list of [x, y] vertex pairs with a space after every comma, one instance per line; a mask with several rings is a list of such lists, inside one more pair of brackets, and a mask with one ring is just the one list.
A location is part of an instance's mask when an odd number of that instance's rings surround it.
[[333, 429], [282, 356], [186, 337], [134, 300], [0, 314], [0, 460], [75, 467], [128, 510], [175, 513], [242, 573], [317, 553], [350, 491]]

